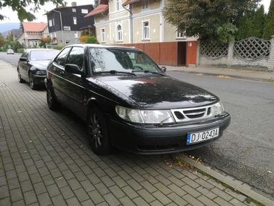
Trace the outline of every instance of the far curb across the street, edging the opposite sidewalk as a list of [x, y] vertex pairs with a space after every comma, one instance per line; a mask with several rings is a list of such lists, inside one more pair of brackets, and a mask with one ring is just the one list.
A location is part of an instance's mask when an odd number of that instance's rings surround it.
[[227, 74], [223, 74], [223, 73], [201, 73], [201, 72], [197, 72], [197, 71], [180, 71], [180, 70], [169, 70], [169, 71], [190, 73], [190, 74], [196, 74], [196, 75], [197, 74], [202, 74], [203, 76], [211, 76], [211, 77], [225, 76], [225, 77], [229, 77], [229, 78], [232, 78], [232, 79], [235, 79], [235, 80], [249, 80], [249, 81], [253, 81], [253, 82], [274, 83], [273, 79], [249, 78], [249, 77], [244, 77], [244, 76], [232, 76], [232, 75], [227, 75]]

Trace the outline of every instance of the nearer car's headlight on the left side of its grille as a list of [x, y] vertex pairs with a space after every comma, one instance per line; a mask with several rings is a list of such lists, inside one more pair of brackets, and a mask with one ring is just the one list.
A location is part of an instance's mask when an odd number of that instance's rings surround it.
[[169, 124], [175, 122], [169, 110], [139, 110], [116, 106], [116, 113], [129, 122], [142, 124]]

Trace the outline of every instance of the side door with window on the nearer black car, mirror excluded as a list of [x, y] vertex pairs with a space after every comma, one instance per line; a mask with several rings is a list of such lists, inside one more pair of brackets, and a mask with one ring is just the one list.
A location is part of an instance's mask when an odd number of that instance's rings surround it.
[[[84, 47], [73, 47], [66, 60], [66, 64], [77, 65], [79, 69], [84, 71]], [[76, 73], [65, 71], [64, 78], [66, 79], [66, 100], [70, 102], [69, 107], [78, 115], [83, 117], [85, 114], [84, 108], [84, 82], [85, 79]]]

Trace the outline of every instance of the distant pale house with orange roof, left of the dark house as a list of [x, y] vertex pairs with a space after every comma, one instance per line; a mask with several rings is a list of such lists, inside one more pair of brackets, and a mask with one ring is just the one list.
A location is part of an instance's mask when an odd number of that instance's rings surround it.
[[22, 34], [17, 37], [19, 43], [25, 47], [38, 47], [41, 38], [49, 36], [47, 23], [23, 22]]

